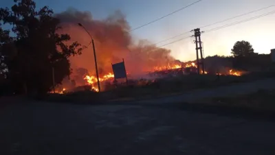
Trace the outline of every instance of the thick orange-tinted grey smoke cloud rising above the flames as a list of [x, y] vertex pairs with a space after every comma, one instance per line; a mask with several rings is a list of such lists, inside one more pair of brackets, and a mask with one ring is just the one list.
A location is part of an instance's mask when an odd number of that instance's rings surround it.
[[[61, 19], [62, 33], [69, 34], [72, 41], [87, 46], [82, 55], [70, 58], [73, 74], [78, 68], [87, 69], [91, 75], [96, 73], [89, 34], [94, 38], [98, 71], [101, 75], [110, 73], [111, 64], [121, 62], [122, 58], [126, 71], [130, 74], [153, 71], [154, 67], [175, 62], [175, 58], [170, 56], [169, 49], [157, 48], [148, 40], [134, 43], [126, 16], [120, 11], [113, 12], [106, 19], [98, 20], [93, 18], [91, 12], [70, 8], [56, 14], [56, 17]], [[81, 23], [89, 34], [78, 23]]]

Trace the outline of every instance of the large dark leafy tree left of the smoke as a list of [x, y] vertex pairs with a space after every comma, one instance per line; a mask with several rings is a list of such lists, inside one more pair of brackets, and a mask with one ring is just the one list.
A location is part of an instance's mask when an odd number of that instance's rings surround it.
[[14, 0], [11, 9], [0, 8], [0, 21], [12, 25], [16, 34], [3, 41], [5, 48], [0, 52], [8, 67], [8, 78], [19, 91], [50, 91], [52, 68], [56, 84], [61, 84], [71, 73], [68, 58], [83, 50], [77, 42], [69, 44], [68, 34], [58, 34], [62, 27], [53, 13], [46, 6], [36, 11], [32, 0]]

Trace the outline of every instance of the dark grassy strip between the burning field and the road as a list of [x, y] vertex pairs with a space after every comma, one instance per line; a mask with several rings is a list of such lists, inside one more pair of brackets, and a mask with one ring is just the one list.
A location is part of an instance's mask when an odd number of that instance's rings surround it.
[[80, 103], [98, 103], [106, 100], [135, 100], [150, 99], [153, 97], [163, 97], [166, 95], [177, 95], [180, 93], [192, 91], [201, 88], [214, 88], [217, 86], [226, 86], [242, 82], [252, 82], [263, 78], [274, 78], [274, 72], [250, 73], [243, 76], [221, 75], [217, 80], [216, 75], [181, 75], [174, 78], [164, 78], [156, 80], [153, 83], [145, 82], [142, 86], [122, 86], [111, 91], [94, 93], [92, 91], [80, 91], [68, 93], [65, 95], [49, 94], [43, 97], [50, 102], [71, 102]]

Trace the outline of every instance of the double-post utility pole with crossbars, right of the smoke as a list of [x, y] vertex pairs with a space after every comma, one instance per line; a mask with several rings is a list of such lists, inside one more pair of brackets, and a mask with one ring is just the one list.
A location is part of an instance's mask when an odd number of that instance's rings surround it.
[[[197, 70], [198, 70], [198, 74], [200, 74], [200, 71], [202, 70], [202, 73], [205, 73], [204, 70], [204, 58], [203, 58], [203, 51], [202, 51], [202, 47], [201, 47], [201, 31], [199, 28], [192, 30], [194, 31], [194, 35], [195, 36], [195, 44], [196, 44], [196, 53], [197, 53]], [[199, 53], [201, 56], [201, 60], [199, 60]], [[201, 69], [201, 70], [200, 70]]]

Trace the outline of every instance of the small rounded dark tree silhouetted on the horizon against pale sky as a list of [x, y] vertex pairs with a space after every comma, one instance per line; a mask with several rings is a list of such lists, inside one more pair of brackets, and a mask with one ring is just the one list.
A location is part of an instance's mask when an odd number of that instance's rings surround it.
[[233, 49], [231, 49], [231, 53], [233, 56], [250, 56], [252, 53], [254, 53], [254, 49], [252, 48], [252, 45], [245, 40], [237, 41], [234, 44]]

